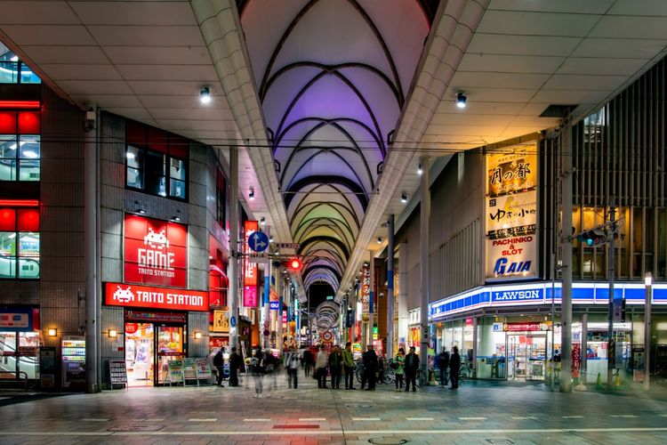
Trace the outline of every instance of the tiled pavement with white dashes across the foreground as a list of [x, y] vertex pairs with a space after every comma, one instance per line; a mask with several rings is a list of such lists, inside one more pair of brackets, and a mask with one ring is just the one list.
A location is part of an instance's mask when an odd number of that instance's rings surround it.
[[0, 406], [0, 443], [667, 443], [667, 402], [539, 386], [131, 388]]

